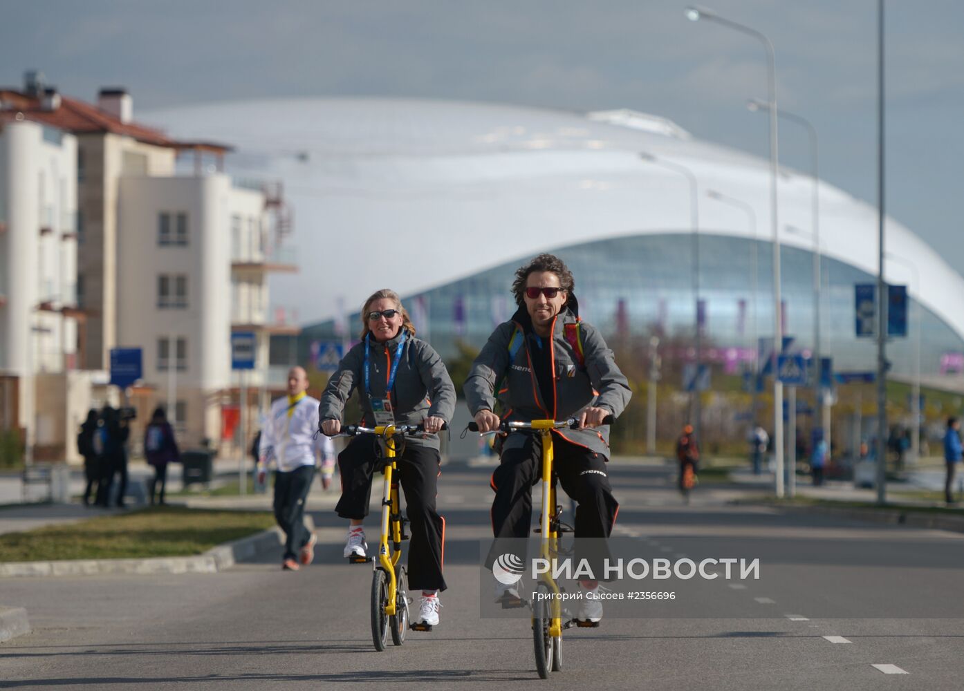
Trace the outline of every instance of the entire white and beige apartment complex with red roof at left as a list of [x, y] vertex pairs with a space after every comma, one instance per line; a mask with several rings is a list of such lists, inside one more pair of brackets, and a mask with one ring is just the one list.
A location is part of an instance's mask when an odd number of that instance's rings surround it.
[[[118, 399], [104, 385], [110, 349], [137, 347], [144, 377], [127, 391], [138, 408], [132, 448], [153, 408], [169, 402], [186, 446], [229, 439], [240, 403], [231, 331], [258, 333], [246, 382], [253, 409], [267, 404], [270, 334], [297, 332], [268, 318], [267, 273], [296, 270], [279, 249], [280, 188], [220, 173], [227, 146], [137, 124], [120, 89], [101, 90], [92, 105], [28, 72], [22, 90], [0, 89], [0, 124], [0, 430], [36, 434], [38, 452], [56, 438], [48, 455], [74, 459], [88, 407]], [[177, 174], [185, 151], [195, 156], [191, 175]], [[207, 154], [215, 165], [201, 165]], [[75, 367], [86, 372], [69, 374]], [[20, 383], [32, 370], [36, 396]], [[59, 383], [43, 380], [65, 371]], [[43, 395], [70, 412], [49, 415]], [[251, 430], [254, 412], [248, 419]]]

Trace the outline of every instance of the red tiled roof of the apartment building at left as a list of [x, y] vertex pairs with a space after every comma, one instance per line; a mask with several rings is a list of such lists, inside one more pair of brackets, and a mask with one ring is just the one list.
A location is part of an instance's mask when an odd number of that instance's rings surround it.
[[12, 89], [0, 89], [0, 103], [0, 120], [16, 120], [16, 115], [22, 113], [26, 120], [41, 122], [73, 134], [111, 132], [154, 146], [185, 147], [185, 143], [174, 141], [159, 129], [136, 122], [121, 122], [117, 116], [76, 98], [61, 96], [57, 110], [44, 110], [38, 97]]

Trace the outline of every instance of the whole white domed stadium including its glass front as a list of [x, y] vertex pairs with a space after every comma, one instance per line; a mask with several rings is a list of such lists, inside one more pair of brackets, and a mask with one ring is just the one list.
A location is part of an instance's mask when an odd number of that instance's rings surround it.
[[[690, 183], [640, 153], [695, 176], [708, 342], [753, 349], [756, 335], [772, 333], [768, 162], [668, 120], [394, 98], [223, 102], [146, 119], [236, 146], [232, 173], [283, 180], [302, 271], [275, 279], [272, 293], [302, 322], [321, 322], [309, 339], [343, 331], [339, 311], [357, 313], [388, 286], [443, 354], [457, 338], [481, 345], [513, 311], [512, 271], [546, 251], [570, 263], [583, 316], [603, 331], [656, 324], [691, 334]], [[805, 350], [814, 345], [812, 193], [809, 175], [781, 171], [784, 318]], [[819, 210], [820, 351], [834, 354], [835, 369], [869, 369], [873, 346], [854, 335], [853, 285], [874, 282], [876, 210], [822, 182]], [[893, 220], [887, 238], [888, 279], [907, 284], [922, 368], [936, 375], [942, 356], [964, 351], [964, 279]], [[911, 341], [890, 348], [897, 375], [912, 371]]]

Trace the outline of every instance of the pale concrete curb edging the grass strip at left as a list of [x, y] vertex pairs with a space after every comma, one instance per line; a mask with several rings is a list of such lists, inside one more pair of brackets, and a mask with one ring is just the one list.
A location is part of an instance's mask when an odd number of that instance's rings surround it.
[[[314, 530], [314, 521], [305, 516], [308, 530]], [[231, 543], [217, 545], [203, 554], [192, 557], [152, 557], [149, 559], [78, 559], [52, 562], [10, 562], [0, 564], [0, 578], [22, 576], [76, 576], [123, 573], [127, 575], [156, 575], [158, 573], [217, 573], [235, 564], [253, 560], [258, 554], [277, 549], [283, 544], [281, 528], [274, 527], [241, 538]], [[2, 612], [2, 610], [0, 610]], [[26, 612], [23, 615], [26, 624]], [[0, 640], [3, 628], [0, 624]]]

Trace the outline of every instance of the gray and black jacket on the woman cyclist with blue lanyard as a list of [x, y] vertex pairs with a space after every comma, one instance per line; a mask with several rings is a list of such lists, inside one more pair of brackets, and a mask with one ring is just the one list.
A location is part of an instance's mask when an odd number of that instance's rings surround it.
[[[385, 343], [378, 343], [372, 339], [369, 353], [371, 370], [368, 379], [373, 398], [387, 397], [385, 389], [388, 385], [391, 359], [395, 356], [400, 337], [401, 332]], [[417, 425], [430, 415], [441, 417], [446, 423], [451, 422], [452, 414], [455, 412], [455, 386], [439, 354], [428, 343], [409, 334], [405, 339], [401, 358], [395, 383], [391, 389], [395, 422], [400, 425]], [[345, 403], [352, 395], [352, 391], [358, 389], [362, 403], [362, 424], [366, 427], [375, 425], [371, 402], [364, 390], [363, 368], [364, 341], [356, 344], [345, 354], [338, 363], [337, 371], [328, 380], [328, 385], [321, 394], [321, 402], [318, 404], [319, 420], [345, 422], [341, 419]], [[407, 443], [439, 449], [438, 437], [406, 439]]]

